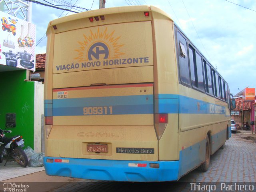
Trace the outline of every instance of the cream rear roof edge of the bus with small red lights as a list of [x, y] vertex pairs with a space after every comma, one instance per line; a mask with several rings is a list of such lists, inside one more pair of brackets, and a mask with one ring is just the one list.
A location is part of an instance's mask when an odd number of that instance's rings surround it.
[[[166, 12], [154, 6], [143, 5], [143, 6], [124, 6], [124, 7], [104, 8], [104, 9], [97, 9], [97, 10], [91, 10], [87, 12], [72, 14], [62, 18], [58, 18], [56, 20], [52, 20], [48, 24], [47, 34], [50, 32], [49, 30], [51, 30], [52, 33], [56, 34], [64, 31], [84, 28], [84, 27], [122, 23], [122, 22], [152, 20], [153, 13], [149, 14], [149, 16], [144, 16], [144, 14], [142, 16], [141, 12], [153, 12], [155, 16], [165, 18], [167, 20], [172, 20]], [[104, 20], [102, 20], [100, 16], [104, 16]], [[98, 22], [96, 22], [95, 17], [99, 18]], [[91, 22], [89, 18], [93, 18], [94, 22]], [[70, 22], [72, 22], [72, 26], [69, 25]], [[55, 27], [56, 29], [53, 29], [52, 26], [56, 26]]]

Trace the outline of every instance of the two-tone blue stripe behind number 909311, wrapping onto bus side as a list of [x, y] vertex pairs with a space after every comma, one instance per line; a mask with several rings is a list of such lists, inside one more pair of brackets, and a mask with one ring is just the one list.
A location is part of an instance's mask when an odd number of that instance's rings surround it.
[[[52, 103], [53, 105], [52, 105]], [[112, 114], [226, 114], [217, 104], [174, 94], [45, 100], [45, 116], [81, 116], [84, 107], [112, 106]], [[154, 108], [154, 110], [153, 110]]]

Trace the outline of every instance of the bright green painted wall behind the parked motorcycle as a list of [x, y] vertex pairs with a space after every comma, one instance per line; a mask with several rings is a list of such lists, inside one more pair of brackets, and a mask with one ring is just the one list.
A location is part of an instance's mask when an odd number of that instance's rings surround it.
[[0, 72], [0, 128], [6, 114], [16, 113], [16, 127], [7, 137], [22, 135], [25, 147], [34, 149], [34, 82], [25, 82], [26, 70]]

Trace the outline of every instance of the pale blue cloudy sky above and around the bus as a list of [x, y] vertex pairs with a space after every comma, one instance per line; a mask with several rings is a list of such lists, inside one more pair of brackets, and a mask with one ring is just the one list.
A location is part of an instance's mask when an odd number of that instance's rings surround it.
[[[235, 95], [246, 87], [256, 88], [256, 0], [228, 1], [106, 0], [105, 8], [153, 5], [164, 10], [217, 68], [228, 82], [230, 93]], [[48, 2], [57, 4], [52, 0]], [[89, 10], [99, 8], [99, 0], [71, 0], [71, 3]], [[46, 53], [47, 38], [38, 42], [45, 37], [48, 23], [67, 14], [74, 13], [32, 4], [32, 23], [36, 24], [36, 54]]]

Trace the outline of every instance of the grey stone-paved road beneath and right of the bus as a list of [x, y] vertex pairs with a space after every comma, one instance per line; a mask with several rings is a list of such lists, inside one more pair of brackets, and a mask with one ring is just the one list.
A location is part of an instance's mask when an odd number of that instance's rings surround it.
[[[26, 180], [28, 176], [23, 176]], [[34, 174], [36, 176], [36, 173]], [[8, 182], [25, 181], [23, 177]], [[50, 176], [47, 176], [50, 177]], [[56, 178], [56, 177], [50, 177]], [[68, 178], [66, 178], [68, 179]], [[38, 177], [40, 180], [40, 176]], [[36, 180], [33, 180], [36, 181]], [[44, 181], [44, 180], [40, 180]], [[49, 182], [49, 180], [47, 180]], [[71, 181], [71, 183], [70, 183]], [[74, 182], [79, 181], [79, 182]], [[82, 181], [82, 182], [81, 182]], [[45, 183], [47, 190], [40, 184], [41, 191], [51, 192], [141, 192], [141, 191], [160, 191], [160, 192], [186, 192], [191, 190], [191, 184], [210, 184], [204, 182], [248, 182], [245, 184], [254, 184], [256, 191], [256, 142], [240, 138], [238, 134], [232, 134], [232, 138], [225, 144], [223, 150], [218, 150], [211, 156], [210, 168], [206, 172], [194, 170], [181, 178], [179, 182], [161, 182], [161, 183], [128, 183], [128, 182], [101, 182], [91, 180], [69, 179], [66, 183], [59, 183], [50, 188], [51, 183]], [[250, 182], [250, 183], [249, 183]], [[30, 183], [31, 184], [31, 183]], [[36, 184], [36, 183], [34, 183]], [[34, 187], [33, 184], [33, 187]], [[219, 183], [220, 184], [220, 183]], [[241, 183], [240, 183], [241, 184]], [[30, 188], [32, 189], [32, 188]], [[50, 189], [50, 190], [49, 190]], [[30, 192], [30, 190], [27, 190]], [[209, 190], [208, 190], [209, 191]], [[213, 191], [213, 190], [212, 190]], [[220, 190], [217, 186], [215, 191]]]

